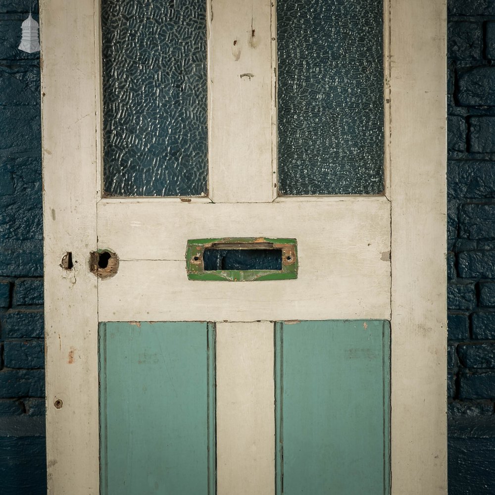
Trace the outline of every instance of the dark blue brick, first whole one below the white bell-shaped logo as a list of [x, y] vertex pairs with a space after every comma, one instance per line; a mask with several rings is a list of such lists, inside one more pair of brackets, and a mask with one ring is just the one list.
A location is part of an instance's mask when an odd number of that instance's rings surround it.
[[40, 66], [1, 65], [0, 105], [39, 105]]

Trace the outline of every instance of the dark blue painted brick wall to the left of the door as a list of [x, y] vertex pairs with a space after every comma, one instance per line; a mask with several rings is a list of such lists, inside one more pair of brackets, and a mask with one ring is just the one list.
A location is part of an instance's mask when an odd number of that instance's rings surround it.
[[0, 0], [0, 493], [46, 494], [39, 53], [17, 49], [36, 1]]

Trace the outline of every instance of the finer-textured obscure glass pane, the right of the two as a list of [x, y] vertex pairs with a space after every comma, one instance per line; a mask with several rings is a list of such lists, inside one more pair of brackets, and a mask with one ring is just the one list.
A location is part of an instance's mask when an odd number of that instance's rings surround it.
[[383, 192], [383, 0], [277, 2], [279, 191]]

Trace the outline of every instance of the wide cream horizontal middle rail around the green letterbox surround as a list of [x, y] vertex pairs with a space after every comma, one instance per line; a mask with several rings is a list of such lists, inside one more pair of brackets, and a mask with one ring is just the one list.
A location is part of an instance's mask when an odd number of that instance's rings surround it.
[[[99, 247], [121, 260], [99, 284], [102, 321], [390, 318], [385, 198], [167, 208], [101, 201], [99, 229]], [[257, 236], [297, 239], [296, 280], [187, 279], [188, 239]]]

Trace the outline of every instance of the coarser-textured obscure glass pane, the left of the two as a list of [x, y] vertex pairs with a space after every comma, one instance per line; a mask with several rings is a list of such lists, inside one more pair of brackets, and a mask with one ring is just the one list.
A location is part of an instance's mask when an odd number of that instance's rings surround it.
[[205, 9], [102, 0], [106, 196], [206, 193]]

